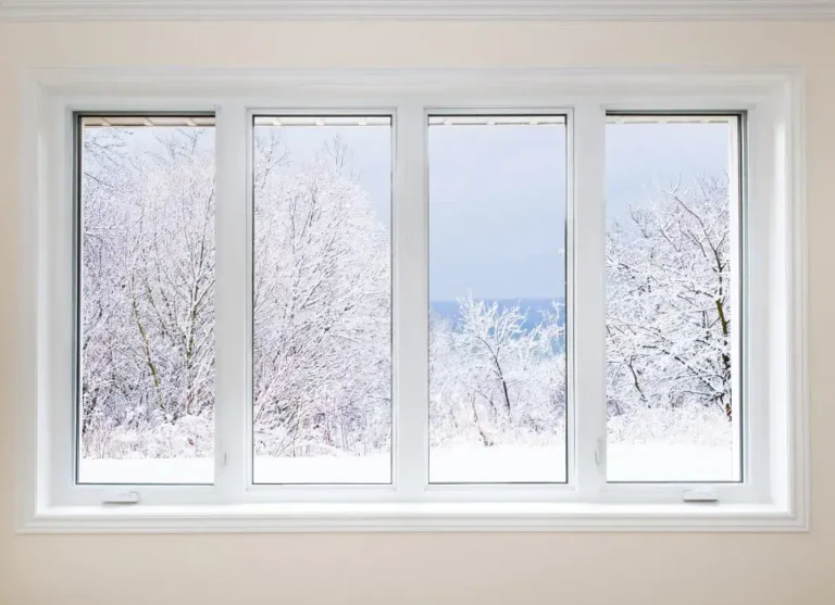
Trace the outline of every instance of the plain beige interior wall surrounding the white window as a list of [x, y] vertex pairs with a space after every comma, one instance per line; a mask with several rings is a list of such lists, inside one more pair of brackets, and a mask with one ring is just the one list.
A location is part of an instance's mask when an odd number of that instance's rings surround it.
[[[12, 361], [22, 66], [800, 65], [812, 531], [18, 535]], [[0, 25], [0, 605], [835, 605], [835, 23]]]

